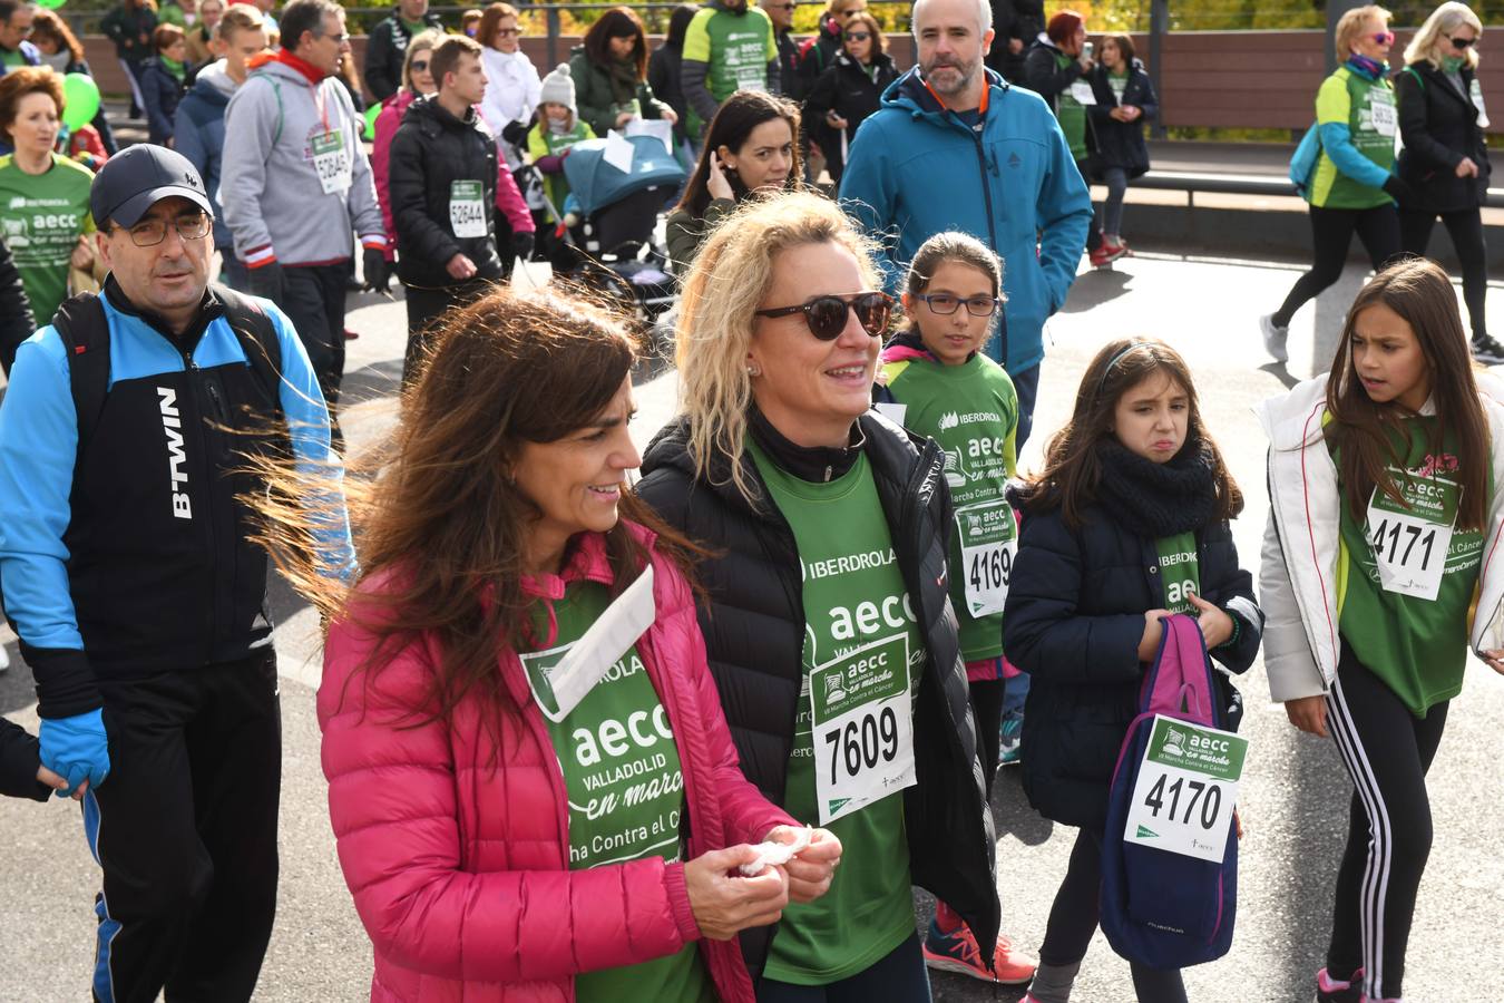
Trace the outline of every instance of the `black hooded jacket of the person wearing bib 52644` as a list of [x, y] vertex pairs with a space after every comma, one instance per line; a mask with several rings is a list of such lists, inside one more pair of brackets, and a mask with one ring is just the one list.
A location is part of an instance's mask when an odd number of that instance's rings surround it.
[[[456, 284], [445, 268], [456, 254], [475, 262], [477, 281], [501, 278], [501, 257], [490, 236], [496, 227], [496, 140], [474, 108], [463, 120], [445, 111], [436, 96], [420, 98], [408, 108], [391, 137], [387, 174], [397, 230], [397, 275], [403, 283]], [[450, 194], [457, 180], [481, 185], [484, 236], [454, 236]]]

